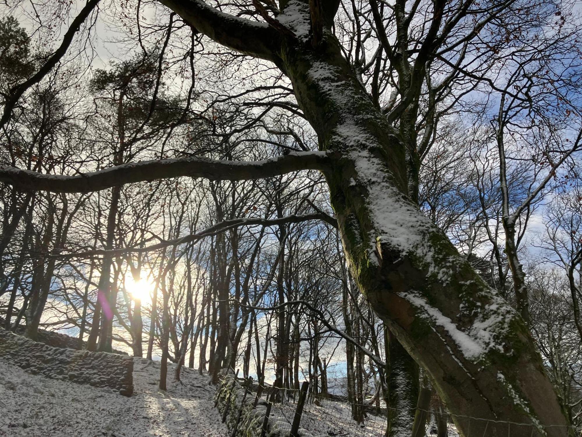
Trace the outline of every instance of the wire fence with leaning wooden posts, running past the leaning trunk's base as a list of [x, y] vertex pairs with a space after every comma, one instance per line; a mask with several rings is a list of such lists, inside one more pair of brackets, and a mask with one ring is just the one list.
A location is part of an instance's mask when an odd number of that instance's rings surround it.
[[[388, 429], [388, 414], [402, 413], [402, 410], [386, 406], [384, 401], [379, 401], [379, 406], [370, 401], [349, 403], [339, 397], [302, 393], [297, 389], [251, 386], [249, 380], [233, 378], [232, 375], [219, 386], [217, 399], [220, 390], [226, 401], [223, 403], [228, 403], [226, 396], [230, 396], [228, 425], [231, 437], [384, 437]], [[299, 428], [293, 428], [294, 422], [297, 422], [301, 396], [304, 396], [304, 403], [300, 408]], [[243, 411], [246, 413], [243, 414]], [[224, 408], [221, 412], [224, 413]], [[413, 437], [457, 437], [459, 433], [455, 423], [463, 427], [466, 437], [582, 436], [581, 429], [567, 425], [498, 421], [420, 407], [406, 413], [410, 417], [420, 412], [425, 414], [419, 431]], [[413, 435], [410, 429], [403, 431]]]

